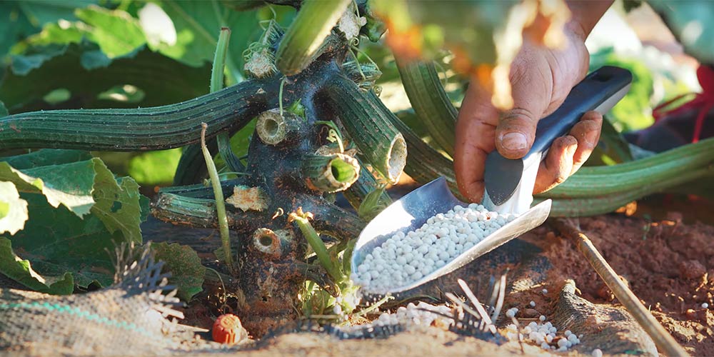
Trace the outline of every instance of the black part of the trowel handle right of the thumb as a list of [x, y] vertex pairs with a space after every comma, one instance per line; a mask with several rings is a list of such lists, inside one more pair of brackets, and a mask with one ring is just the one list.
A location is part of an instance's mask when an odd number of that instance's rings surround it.
[[[548, 151], [553, 140], [565, 135], [588, 111], [607, 113], [627, 94], [632, 74], [627, 69], [604, 66], [573, 87], [563, 104], [543, 119], [535, 129], [535, 141], [528, 156]], [[525, 159], [525, 158], [524, 158]]]

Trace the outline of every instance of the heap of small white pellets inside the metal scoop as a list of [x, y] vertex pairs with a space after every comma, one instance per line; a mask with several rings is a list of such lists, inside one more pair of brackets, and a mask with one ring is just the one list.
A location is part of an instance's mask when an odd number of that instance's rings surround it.
[[413, 283], [445, 266], [516, 218], [471, 203], [428, 218], [416, 231], [398, 232], [365, 256], [352, 280], [379, 292]]

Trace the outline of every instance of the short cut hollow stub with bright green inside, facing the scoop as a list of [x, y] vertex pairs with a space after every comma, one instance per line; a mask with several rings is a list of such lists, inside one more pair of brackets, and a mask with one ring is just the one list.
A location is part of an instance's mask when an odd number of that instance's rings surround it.
[[357, 159], [346, 154], [307, 155], [302, 161], [303, 178], [309, 188], [328, 193], [344, 191], [359, 177]]

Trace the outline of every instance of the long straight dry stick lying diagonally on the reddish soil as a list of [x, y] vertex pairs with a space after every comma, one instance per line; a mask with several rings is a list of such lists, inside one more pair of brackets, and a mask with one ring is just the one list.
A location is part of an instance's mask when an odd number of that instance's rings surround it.
[[563, 218], [551, 219], [555, 229], [563, 233], [564, 236], [572, 239], [578, 246], [580, 252], [588, 260], [590, 266], [593, 266], [600, 278], [603, 279], [605, 285], [613, 291], [618, 301], [625, 306], [627, 311], [640, 323], [650, 337], [655, 341], [660, 350], [664, 351], [667, 356], [689, 356], [684, 348], [675, 341], [675, 339], [660, 325], [654, 316], [640, 303], [640, 299], [620, 280], [620, 277], [613, 268], [605, 261], [605, 258], [600, 255], [598, 248], [595, 248], [593, 242], [575, 228], [569, 221]]

